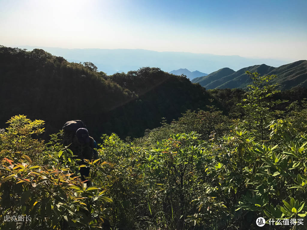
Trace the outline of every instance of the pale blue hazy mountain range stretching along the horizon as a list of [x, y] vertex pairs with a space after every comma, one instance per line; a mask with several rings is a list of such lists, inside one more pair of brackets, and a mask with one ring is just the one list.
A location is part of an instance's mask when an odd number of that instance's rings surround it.
[[33, 50], [41, 48], [55, 56], [62, 56], [71, 62], [92, 62], [99, 71], [108, 75], [115, 72], [128, 72], [137, 70], [140, 67], [159, 67], [169, 72], [182, 67], [188, 70], [198, 70], [204, 73], [211, 73], [223, 67], [239, 70], [246, 66], [266, 63], [270, 66], [281, 66], [290, 61], [275, 59], [254, 59], [237, 55], [220, 56], [213, 54], [200, 54], [188, 52], [157, 52], [143, 49], [65, 49], [39, 46], [18, 46]]

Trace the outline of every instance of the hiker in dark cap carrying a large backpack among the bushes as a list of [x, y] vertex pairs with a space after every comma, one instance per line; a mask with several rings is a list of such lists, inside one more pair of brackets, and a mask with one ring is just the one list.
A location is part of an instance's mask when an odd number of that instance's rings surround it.
[[[92, 160], [98, 159], [98, 152], [95, 150], [97, 148], [96, 141], [88, 135], [83, 121], [68, 121], [63, 126], [64, 136], [63, 144], [69, 145], [69, 149], [72, 150], [72, 153], [76, 155], [76, 159], [80, 159], [79, 162], [76, 162], [79, 165], [85, 164], [84, 159]], [[85, 177], [88, 177], [90, 173], [90, 168], [81, 167], [80, 168], [81, 180], [84, 181]], [[87, 186], [91, 184], [90, 181], [87, 181]]]

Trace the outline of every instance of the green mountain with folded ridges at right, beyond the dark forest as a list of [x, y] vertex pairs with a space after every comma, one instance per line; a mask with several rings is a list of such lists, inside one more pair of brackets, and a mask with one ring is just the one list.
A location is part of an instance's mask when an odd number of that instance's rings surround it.
[[251, 84], [246, 71], [257, 72], [260, 75], [277, 75], [278, 77], [272, 83], [279, 83], [280, 89], [291, 89], [296, 86], [307, 87], [307, 60], [296, 61], [280, 67], [265, 64], [254, 65], [238, 71], [222, 68], [207, 76], [195, 78], [192, 82], [199, 83], [206, 89], [246, 88]]

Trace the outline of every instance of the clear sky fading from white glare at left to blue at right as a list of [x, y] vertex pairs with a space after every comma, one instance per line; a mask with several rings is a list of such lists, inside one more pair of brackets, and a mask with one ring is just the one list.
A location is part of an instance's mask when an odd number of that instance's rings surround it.
[[307, 0], [0, 0], [0, 44], [307, 59]]

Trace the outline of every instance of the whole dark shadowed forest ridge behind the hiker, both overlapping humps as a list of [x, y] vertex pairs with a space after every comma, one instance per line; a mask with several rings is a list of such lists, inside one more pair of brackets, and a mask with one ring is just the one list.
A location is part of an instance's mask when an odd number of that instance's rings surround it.
[[83, 120], [90, 135], [142, 136], [146, 128], [205, 109], [210, 95], [189, 79], [159, 68], [107, 76], [92, 63], [69, 63], [41, 49], [0, 46], [0, 128], [15, 114], [46, 121], [48, 132]]

